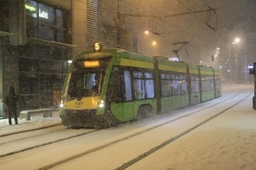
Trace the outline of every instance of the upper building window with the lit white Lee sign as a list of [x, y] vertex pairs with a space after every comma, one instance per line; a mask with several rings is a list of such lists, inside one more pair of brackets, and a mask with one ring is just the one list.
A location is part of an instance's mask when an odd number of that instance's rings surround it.
[[70, 12], [26, 0], [26, 35], [48, 41], [71, 43]]

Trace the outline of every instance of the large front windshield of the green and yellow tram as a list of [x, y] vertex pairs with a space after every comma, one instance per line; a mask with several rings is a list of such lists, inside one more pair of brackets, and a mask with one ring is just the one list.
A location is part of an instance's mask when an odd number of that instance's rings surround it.
[[104, 81], [104, 69], [80, 69], [71, 75], [67, 100], [100, 95]]

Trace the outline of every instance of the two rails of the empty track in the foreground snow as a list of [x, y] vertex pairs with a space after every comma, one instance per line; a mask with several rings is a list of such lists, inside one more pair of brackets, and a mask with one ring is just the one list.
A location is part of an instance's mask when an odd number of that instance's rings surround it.
[[[229, 93], [228, 93], [228, 94], [229, 94]], [[56, 161], [55, 163], [52, 163], [52, 164], [50, 164], [50, 165], [48, 165], [48, 166], [41, 167], [40, 169], [43, 169], [43, 170], [44, 170], [44, 169], [50, 169], [50, 168], [52, 168], [52, 167], [57, 167], [57, 166], [60, 166], [60, 165], [62, 165], [62, 164], [67, 163], [68, 161], [73, 161], [73, 160], [79, 159], [79, 158], [82, 157], [82, 156], [87, 156], [87, 155], [92, 154], [92, 153], [94, 153], [94, 152], [96, 152], [96, 151], [106, 149], [106, 148], [108, 148], [108, 147], [110, 147], [110, 146], [113, 146], [114, 144], [119, 144], [120, 142], [123, 142], [123, 141], [125, 141], [125, 140], [127, 140], [127, 139], [132, 139], [132, 138], [134, 138], [134, 137], [137, 137], [137, 136], [139, 136], [139, 135], [142, 135], [143, 133], [147, 133], [147, 132], [149, 132], [149, 131], [152, 131], [152, 130], [158, 128], [158, 127], [163, 127], [163, 126], [165, 126], [165, 125], [167, 125], [167, 124], [169, 124], [169, 123], [171, 123], [171, 122], [175, 122], [175, 121], [177, 121], [177, 120], [179, 120], [179, 119], [182, 119], [182, 118], [184, 118], [184, 117], [191, 116], [191, 115], [195, 114], [195, 113], [198, 112], [198, 111], [204, 111], [204, 110], [207, 110], [207, 109], [209, 109], [209, 108], [212, 108], [212, 107], [214, 107], [214, 106], [216, 106], [216, 105], [223, 104], [224, 102], [228, 102], [230, 99], [234, 99], [234, 97], [236, 97], [236, 96], [238, 96], [238, 95], [240, 95], [240, 94], [241, 94], [241, 93], [232, 95], [232, 96], [230, 96], [229, 98], [222, 99], [221, 101], [219, 101], [219, 102], [216, 103], [216, 104], [209, 105], [209, 106], [207, 106], [207, 107], [204, 107], [204, 108], [199, 109], [199, 110], [196, 110], [196, 111], [192, 111], [192, 112], [190, 112], [189, 114], [186, 114], [186, 115], [184, 115], [184, 116], [179, 116], [179, 117], [177, 117], [177, 118], [175, 118], [175, 119], [172, 119], [172, 120], [169, 120], [169, 121], [166, 121], [166, 122], [162, 122], [162, 123], [160, 123], [160, 124], [158, 124], [158, 125], [155, 125], [155, 126], [153, 126], [153, 127], [148, 127], [148, 128], [146, 128], [146, 129], [144, 129], [144, 130], [142, 130], [142, 131], [140, 131], [140, 132], [133, 133], [133, 134], [128, 135], [128, 136], [125, 136], [124, 138], [121, 138], [121, 139], [113, 140], [112, 142], [109, 142], [109, 143], [107, 143], [107, 144], [102, 144], [102, 145], [100, 145], [100, 146], [98, 146], [98, 147], [95, 147], [95, 148], [92, 148], [92, 149], [90, 149], [90, 150], [86, 150], [86, 151], [84, 151], [84, 152], [81, 152], [81, 153], [79, 153], [79, 154], [77, 154], [77, 155], [75, 155], [75, 156], [70, 156], [70, 157], [68, 157], [67, 159], [63, 159], [63, 160], [61, 160], [61, 161]], [[251, 93], [251, 94], [253, 94], [253, 93]], [[229, 111], [229, 110], [230, 110], [231, 108], [233, 108], [234, 106], [240, 104], [241, 101], [243, 101], [244, 99], [247, 99], [251, 94], [247, 94], [247, 96], [246, 96], [245, 98], [240, 99], [240, 100], [237, 101], [235, 104], [230, 105], [229, 107], [225, 108], [225, 109], [222, 110], [222, 111], [218, 111], [218, 113], [215, 113], [213, 116], [210, 116], [210, 117], [208, 117], [207, 119], [205, 119], [204, 121], [197, 123], [195, 126], [188, 128], [187, 130], [183, 131], [182, 133], [178, 133], [177, 135], [175, 135], [175, 136], [172, 137], [171, 139], [167, 139], [165, 142], [163, 142], [163, 143], [161, 143], [161, 144], [159, 144], [159, 145], [157, 145], [157, 146], [151, 148], [150, 150], [147, 150], [147, 151], [143, 152], [143, 154], [137, 156], [137, 157], [134, 158], [134, 159], [131, 159], [130, 161], [125, 162], [124, 164], [122, 164], [121, 166], [117, 167], [116, 169], [125, 169], [126, 167], [130, 167], [131, 165], [135, 164], [137, 161], [142, 160], [144, 157], [149, 156], [150, 154], [153, 154], [153, 153], [154, 153], [155, 151], [157, 151], [157, 150], [160, 150], [161, 148], [163, 148], [164, 146], [166, 146], [166, 144], [171, 144], [173, 141], [175, 141], [175, 140], [181, 138], [181, 137], [182, 137], [183, 135], [185, 135], [185, 134], [190, 133], [190, 132], [193, 131], [195, 128], [201, 127], [201, 125], [203, 125], [203, 124], [205, 124], [205, 123], [211, 121], [213, 118], [215, 118], [215, 117], [217, 117], [217, 116], [223, 114], [223, 113], [226, 112], [226, 111]]]

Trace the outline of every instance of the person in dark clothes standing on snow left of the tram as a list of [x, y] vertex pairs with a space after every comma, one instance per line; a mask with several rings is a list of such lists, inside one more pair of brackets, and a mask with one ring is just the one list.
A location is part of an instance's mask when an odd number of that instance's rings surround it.
[[7, 96], [7, 111], [9, 114], [9, 125], [12, 125], [12, 116], [15, 117], [15, 124], [18, 124], [17, 119], [17, 101], [19, 100], [19, 95], [15, 94], [15, 88], [13, 86], [9, 87], [9, 95]]

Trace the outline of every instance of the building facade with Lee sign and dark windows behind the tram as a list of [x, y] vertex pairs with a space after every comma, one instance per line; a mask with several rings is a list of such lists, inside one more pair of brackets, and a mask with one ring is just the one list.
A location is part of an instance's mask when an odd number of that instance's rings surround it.
[[[9, 86], [18, 112], [58, 108], [73, 57], [102, 41], [101, 0], [0, 0], [0, 101]], [[0, 102], [0, 117], [4, 105]]]

